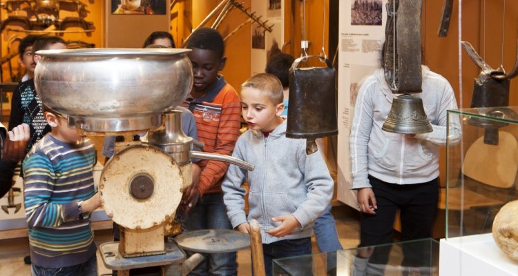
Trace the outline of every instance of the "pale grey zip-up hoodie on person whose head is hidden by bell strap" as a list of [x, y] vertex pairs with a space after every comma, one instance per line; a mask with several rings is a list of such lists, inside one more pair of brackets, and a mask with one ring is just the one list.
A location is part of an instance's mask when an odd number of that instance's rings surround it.
[[[448, 80], [426, 66], [421, 72], [423, 92], [413, 95], [423, 99], [433, 131], [413, 138], [381, 129], [396, 97], [385, 81], [383, 69], [363, 82], [349, 137], [353, 189], [370, 188], [368, 175], [392, 184], [419, 184], [439, 177], [439, 145], [445, 145], [448, 139], [446, 111], [457, 109], [457, 101]], [[449, 139], [458, 141], [459, 118], [451, 119]]]

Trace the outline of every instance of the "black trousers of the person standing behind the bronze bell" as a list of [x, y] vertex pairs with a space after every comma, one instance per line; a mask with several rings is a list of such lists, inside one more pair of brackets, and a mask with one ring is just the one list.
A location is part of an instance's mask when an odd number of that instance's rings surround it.
[[[432, 227], [439, 203], [439, 178], [422, 184], [399, 185], [369, 176], [376, 197], [376, 215], [361, 214], [360, 246], [392, 243], [394, 219], [400, 210], [403, 241], [432, 237]], [[403, 244], [403, 266], [421, 266], [430, 256], [425, 248]], [[428, 250], [429, 252], [429, 250]], [[374, 250], [370, 262], [386, 264], [390, 246]]]

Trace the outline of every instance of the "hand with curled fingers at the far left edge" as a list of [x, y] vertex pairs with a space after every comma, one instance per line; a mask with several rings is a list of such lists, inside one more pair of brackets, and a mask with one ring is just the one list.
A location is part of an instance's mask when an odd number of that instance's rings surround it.
[[7, 132], [6, 143], [2, 148], [2, 161], [18, 162], [25, 154], [30, 139], [28, 124], [20, 124]]

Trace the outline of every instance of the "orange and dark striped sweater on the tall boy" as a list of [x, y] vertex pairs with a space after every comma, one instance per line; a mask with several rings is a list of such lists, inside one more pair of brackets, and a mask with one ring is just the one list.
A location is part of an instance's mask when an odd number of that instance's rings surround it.
[[[193, 112], [198, 139], [205, 144], [204, 152], [232, 155], [240, 134], [241, 106], [238, 93], [222, 76], [218, 76], [213, 88], [206, 95], [198, 99], [187, 97], [182, 106]], [[222, 177], [229, 164], [201, 160], [198, 166], [202, 169], [198, 184], [200, 197], [204, 194], [221, 193]]]

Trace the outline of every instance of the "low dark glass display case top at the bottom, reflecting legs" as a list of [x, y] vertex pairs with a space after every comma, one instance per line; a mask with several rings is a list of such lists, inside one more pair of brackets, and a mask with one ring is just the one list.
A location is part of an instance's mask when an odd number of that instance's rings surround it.
[[419, 239], [274, 259], [274, 275], [439, 275], [439, 242]]

